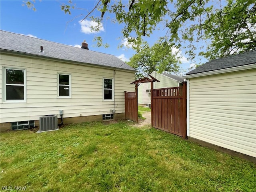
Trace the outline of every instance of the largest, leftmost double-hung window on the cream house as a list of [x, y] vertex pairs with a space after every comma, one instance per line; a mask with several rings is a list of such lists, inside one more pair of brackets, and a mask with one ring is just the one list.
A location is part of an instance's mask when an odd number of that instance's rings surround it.
[[5, 101], [24, 101], [26, 76], [25, 70], [4, 68]]

